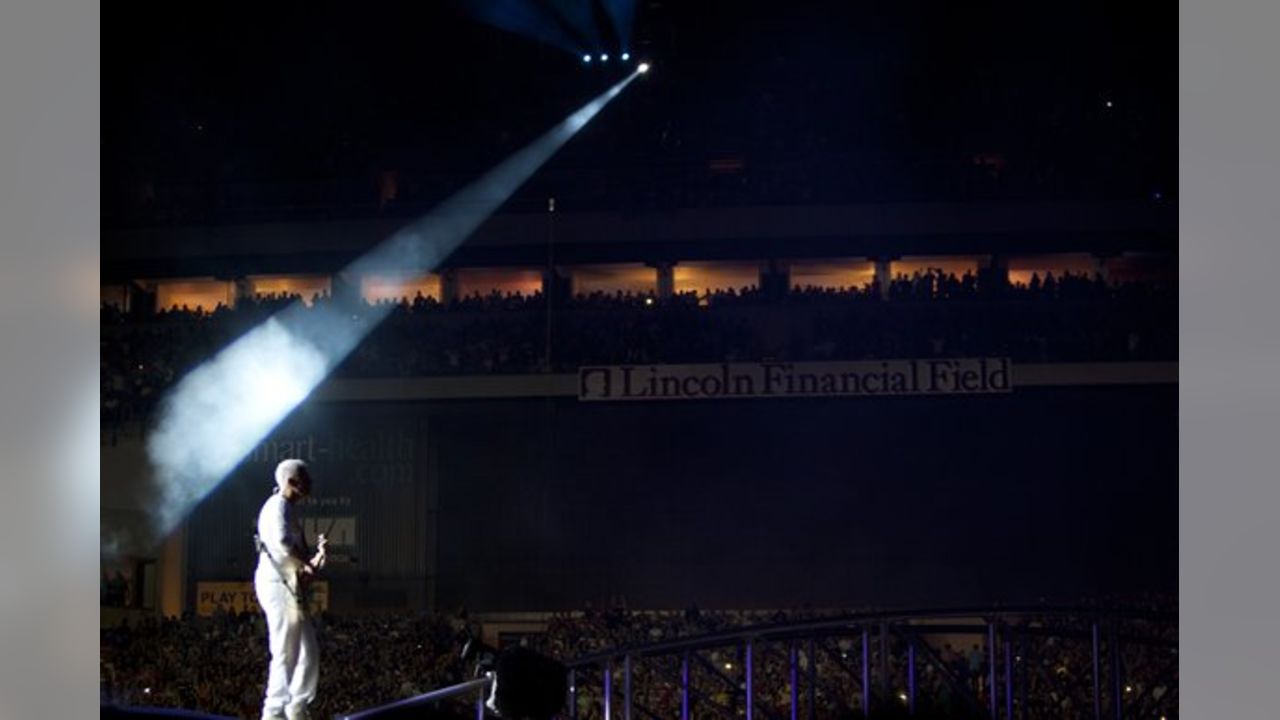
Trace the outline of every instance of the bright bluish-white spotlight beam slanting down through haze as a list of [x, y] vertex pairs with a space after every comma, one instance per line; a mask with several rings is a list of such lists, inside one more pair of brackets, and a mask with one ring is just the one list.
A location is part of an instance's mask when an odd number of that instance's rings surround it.
[[[343, 272], [434, 269], [636, 78], [631, 73]], [[356, 348], [390, 309], [337, 296], [294, 302], [206, 360], [164, 397], [147, 455], [168, 534]]]

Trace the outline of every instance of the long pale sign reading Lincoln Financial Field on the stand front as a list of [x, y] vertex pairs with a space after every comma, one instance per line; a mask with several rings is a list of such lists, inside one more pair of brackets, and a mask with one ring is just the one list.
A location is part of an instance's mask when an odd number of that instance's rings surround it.
[[723, 400], [1010, 392], [1007, 357], [580, 368], [577, 398]]

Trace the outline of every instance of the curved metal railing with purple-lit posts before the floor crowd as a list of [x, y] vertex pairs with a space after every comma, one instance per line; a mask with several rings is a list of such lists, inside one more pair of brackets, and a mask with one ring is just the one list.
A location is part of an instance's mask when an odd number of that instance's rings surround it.
[[[567, 715], [797, 720], [828, 716], [840, 706], [864, 715], [937, 710], [1012, 720], [1037, 717], [1052, 702], [1079, 717], [1172, 716], [1174, 633], [1170, 612], [1041, 606], [868, 612], [737, 628], [568, 662]], [[969, 667], [957, 669], [940, 652], [940, 638], [977, 639], [980, 657], [970, 655]], [[780, 674], [764, 664], [783, 670], [785, 688], [774, 687]], [[855, 692], [837, 698], [833, 687]], [[783, 689], [786, 701], [778, 702]]]

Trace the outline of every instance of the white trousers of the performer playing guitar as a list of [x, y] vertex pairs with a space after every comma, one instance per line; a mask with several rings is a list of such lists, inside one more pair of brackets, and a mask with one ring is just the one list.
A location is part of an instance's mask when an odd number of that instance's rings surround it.
[[298, 605], [298, 598], [279, 577], [259, 570], [253, 589], [266, 614], [268, 644], [271, 648], [262, 715], [283, 712], [287, 717], [305, 717], [307, 705], [316, 697], [316, 680], [320, 678], [315, 628]]

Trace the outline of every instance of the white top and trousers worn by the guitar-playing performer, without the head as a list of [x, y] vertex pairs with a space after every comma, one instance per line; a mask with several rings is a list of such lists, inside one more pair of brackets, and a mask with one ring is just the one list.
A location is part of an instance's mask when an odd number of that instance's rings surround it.
[[320, 657], [315, 628], [298, 600], [302, 561], [297, 556], [306, 556], [306, 541], [293, 505], [279, 492], [257, 514], [257, 537], [264, 551], [259, 553], [253, 589], [266, 615], [271, 650], [262, 717], [307, 717], [307, 705], [316, 697]]

